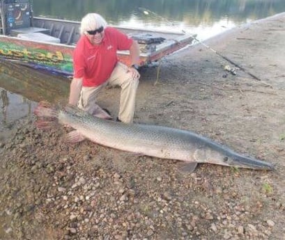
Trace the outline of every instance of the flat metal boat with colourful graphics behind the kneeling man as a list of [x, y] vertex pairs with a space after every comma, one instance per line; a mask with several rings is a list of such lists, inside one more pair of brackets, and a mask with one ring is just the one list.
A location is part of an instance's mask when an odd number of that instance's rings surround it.
[[[80, 38], [80, 22], [34, 17], [31, 0], [1, 0], [0, 58], [72, 77], [72, 51]], [[190, 45], [195, 36], [114, 26], [139, 42], [140, 66], [149, 65]], [[129, 51], [117, 51], [130, 65]]]

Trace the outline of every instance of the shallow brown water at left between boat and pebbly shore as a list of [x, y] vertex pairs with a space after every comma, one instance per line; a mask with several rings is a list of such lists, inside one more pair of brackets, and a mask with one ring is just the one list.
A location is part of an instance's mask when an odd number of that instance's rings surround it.
[[20, 121], [29, 121], [37, 102], [68, 98], [69, 80], [0, 61], [0, 142]]

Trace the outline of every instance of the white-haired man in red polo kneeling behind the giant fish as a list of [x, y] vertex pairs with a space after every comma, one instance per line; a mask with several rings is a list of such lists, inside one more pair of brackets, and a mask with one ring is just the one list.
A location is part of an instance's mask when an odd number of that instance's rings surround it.
[[[73, 53], [74, 77], [70, 84], [69, 104], [100, 118], [111, 116], [96, 104], [100, 90], [120, 86], [118, 121], [131, 123], [139, 85], [139, 45], [117, 29], [107, 26], [97, 13], [82, 18], [81, 37]], [[130, 50], [131, 66], [118, 62], [117, 50]]]

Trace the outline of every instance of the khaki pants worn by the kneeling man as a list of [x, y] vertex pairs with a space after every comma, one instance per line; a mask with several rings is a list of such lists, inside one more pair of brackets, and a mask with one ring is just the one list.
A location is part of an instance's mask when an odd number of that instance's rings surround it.
[[91, 114], [102, 113], [103, 110], [95, 102], [100, 90], [105, 88], [107, 84], [110, 86], [121, 87], [118, 118], [122, 122], [132, 122], [134, 118], [135, 98], [137, 94], [137, 86], [139, 86], [139, 79], [133, 79], [130, 72], [128, 72], [128, 67], [120, 62], [116, 64], [111, 76], [104, 84], [96, 87], [82, 87], [78, 102], [79, 109], [88, 111], [88, 113]]

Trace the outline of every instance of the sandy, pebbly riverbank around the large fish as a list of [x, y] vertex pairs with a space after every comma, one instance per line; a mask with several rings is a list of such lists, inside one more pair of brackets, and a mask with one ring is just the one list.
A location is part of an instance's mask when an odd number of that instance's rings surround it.
[[[195, 131], [272, 172], [133, 156], [67, 129], [18, 127], [1, 146], [0, 239], [285, 239], [285, 14], [141, 70], [136, 122]], [[254, 77], [253, 77], [254, 76]], [[158, 81], [157, 81], [158, 80]], [[119, 90], [100, 98], [115, 116]]]

